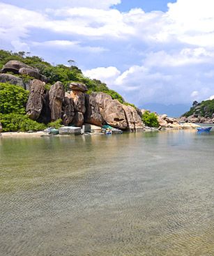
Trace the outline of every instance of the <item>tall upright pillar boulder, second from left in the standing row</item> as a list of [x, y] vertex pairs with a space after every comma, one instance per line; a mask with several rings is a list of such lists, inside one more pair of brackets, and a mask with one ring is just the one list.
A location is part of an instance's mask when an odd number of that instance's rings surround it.
[[52, 121], [61, 119], [64, 95], [65, 92], [61, 82], [56, 82], [51, 86], [49, 90], [49, 108]]

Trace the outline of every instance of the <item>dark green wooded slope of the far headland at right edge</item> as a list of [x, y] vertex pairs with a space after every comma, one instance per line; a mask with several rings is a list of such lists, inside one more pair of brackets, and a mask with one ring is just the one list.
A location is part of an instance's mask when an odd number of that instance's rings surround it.
[[188, 112], [185, 112], [183, 116], [192, 116], [197, 114], [204, 117], [212, 117], [214, 113], [214, 100], [204, 100], [201, 103], [194, 102]]

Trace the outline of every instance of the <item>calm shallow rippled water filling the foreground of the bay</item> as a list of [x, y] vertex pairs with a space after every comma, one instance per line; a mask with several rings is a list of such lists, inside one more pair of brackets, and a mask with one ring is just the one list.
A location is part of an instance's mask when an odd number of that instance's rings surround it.
[[214, 255], [214, 133], [0, 139], [0, 255]]

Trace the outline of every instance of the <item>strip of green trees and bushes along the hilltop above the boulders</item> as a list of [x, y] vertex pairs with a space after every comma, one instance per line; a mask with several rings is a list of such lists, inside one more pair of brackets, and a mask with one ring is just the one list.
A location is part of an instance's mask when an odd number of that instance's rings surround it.
[[[27, 55], [29, 55], [29, 53], [0, 50], [0, 69], [10, 60], [22, 61], [33, 68], [38, 68], [40, 73], [47, 77], [47, 88], [57, 81], [61, 81], [65, 86], [65, 89], [68, 88], [68, 84], [70, 84], [70, 82], [82, 82], [89, 88], [88, 93], [91, 93], [92, 91], [102, 91], [112, 96], [113, 99], [119, 100], [120, 103], [125, 103], [123, 97], [116, 91], [109, 89], [107, 84], [101, 82], [100, 80], [91, 80], [89, 77], [85, 77], [82, 74], [82, 70], [73, 65], [75, 62], [72, 60], [68, 61], [70, 66], [65, 66], [62, 64], [52, 66], [50, 63], [44, 61], [44, 59], [40, 57], [30, 57]], [[26, 77], [26, 80], [27, 79], [29, 79], [29, 77]]]

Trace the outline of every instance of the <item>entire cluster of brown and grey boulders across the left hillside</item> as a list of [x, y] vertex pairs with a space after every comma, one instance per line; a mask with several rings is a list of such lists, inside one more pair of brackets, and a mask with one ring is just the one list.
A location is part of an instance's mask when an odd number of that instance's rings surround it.
[[[26, 86], [20, 77], [6, 72], [26, 74], [35, 79]], [[0, 74], [0, 82], [9, 82], [29, 89], [26, 114], [33, 120], [47, 123], [62, 119], [65, 126], [71, 124], [80, 127], [83, 123], [95, 126], [109, 124], [114, 128], [129, 131], [144, 128], [141, 115], [134, 107], [113, 100], [107, 93], [86, 94], [87, 86], [75, 82], [70, 83], [68, 91], [64, 91], [61, 82], [56, 82], [47, 91], [45, 81], [45, 77], [38, 70], [20, 61], [8, 61]]]

